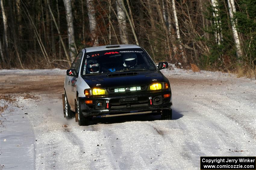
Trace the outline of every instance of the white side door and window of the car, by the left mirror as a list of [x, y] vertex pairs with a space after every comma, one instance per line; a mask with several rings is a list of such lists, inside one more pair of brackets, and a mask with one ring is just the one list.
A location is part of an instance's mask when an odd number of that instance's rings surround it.
[[[82, 61], [82, 57], [83, 57], [83, 52], [79, 52], [75, 58], [75, 60], [73, 61], [70, 69], [75, 69], [77, 75], [79, 75], [79, 71], [80, 71], [80, 65], [81, 65], [81, 61]], [[75, 99], [76, 99], [76, 81], [77, 81], [77, 77], [74, 76], [69, 76], [69, 80], [68, 80], [68, 86], [69, 86], [69, 104], [71, 107], [74, 108], [75, 106]]]

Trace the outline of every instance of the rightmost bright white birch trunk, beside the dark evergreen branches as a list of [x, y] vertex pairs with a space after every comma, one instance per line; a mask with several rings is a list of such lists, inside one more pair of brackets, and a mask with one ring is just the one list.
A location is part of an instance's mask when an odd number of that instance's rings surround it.
[[236, 30], [236, 23], [234, 21], [234, 16], [233, 16], [233, 14], [236, 13], [235, 2], [234, 2], [234, 0], [227, 0], [227, 1], [228, 1], [228, 6], [229, 6], [229, 16], [230, 16], [231, 24], [232, 24], [233, 37], [234, 37], [234, 41], [236, 44], [236, 57], [239, 59], [242, 56], [242, 49], [241, 49], [238, 33]]

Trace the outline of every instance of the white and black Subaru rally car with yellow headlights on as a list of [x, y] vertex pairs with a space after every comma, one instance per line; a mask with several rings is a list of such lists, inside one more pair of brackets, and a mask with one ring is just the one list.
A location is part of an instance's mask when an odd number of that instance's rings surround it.
[[82, 49], [64, 80], [64, 117], [89, 125], [94, 116], [161, 114], [172, 118], [172, 92], [160, 72], [167, 62], [154, 63], [137, 45]]

